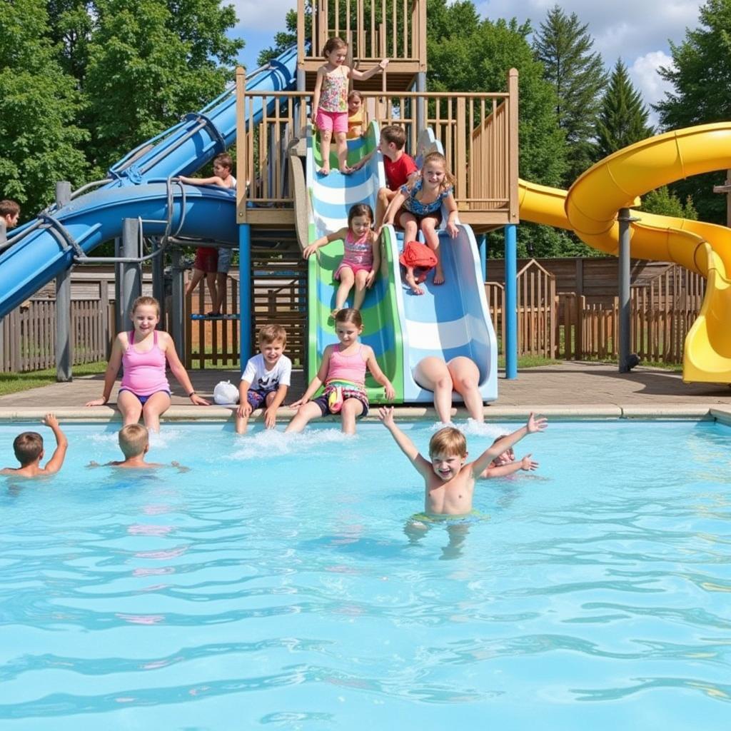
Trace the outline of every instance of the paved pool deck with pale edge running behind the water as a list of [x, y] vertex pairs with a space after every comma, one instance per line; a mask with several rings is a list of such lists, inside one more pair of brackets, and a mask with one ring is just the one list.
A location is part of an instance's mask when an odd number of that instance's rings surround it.
[[[204, 398], [212, 399], [213, 387], [221, 380], [238, 383], [239, 371], [191, 371], [193, 385]], [[292, 374], [287, 401], [295, 401], [306, 387], [301, 371]], [[502, 376], [502, 374], [501, 374]], [[84, 404], [102, 393], [103, 376], [81, 376], [69, 383], [12, 393], [0, 397], [0, 420], [33, 420], [54, 412], [62, 420], [118, 420], [119, 413], [110, 406], [86, 408]], [[191, 406], [174, 379], [173, 406], [164, 420], [232, 419], [232, 409], [225, 406]], [[111, 401], [116, 398], [116, 387]], [[605, 363], [558, 363], [555, 366], [526, 368], [518, 378], [501, 377], [498, 400], [485, 406], [488, 420], [523, 418], [530, 411], [564, 418], [716, 418], [731, 423], [731, 387], [723, 384], [683, 383], [681, 374], [659, 368], [638, 367], [629, 374], [619, 374], [616, 366]], [[289, 420], [294, 412], [280, 409], [279, 421]], [[400, 406], [397, 414], [409, 419], [436, 420], [432, 408]], [[462, 408], [457, 418], [466, 416]], [[332, 418], [332, 417], [329, 417]], [[371, 410], [371, 418], [376, 418]], [[254, 412], [252, 425], [257, 423]]]

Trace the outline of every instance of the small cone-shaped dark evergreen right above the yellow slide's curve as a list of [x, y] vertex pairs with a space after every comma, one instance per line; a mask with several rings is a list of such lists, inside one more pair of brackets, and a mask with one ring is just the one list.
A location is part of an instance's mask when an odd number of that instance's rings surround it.
[[596, 124], [598, 157], [621, 150], [627, 145], [651, 137], [653, 129], [647, 124], [648, 110], [640, 92], [632, 86], [627, 67], [618, 59], [602, 99], [602, 109]]

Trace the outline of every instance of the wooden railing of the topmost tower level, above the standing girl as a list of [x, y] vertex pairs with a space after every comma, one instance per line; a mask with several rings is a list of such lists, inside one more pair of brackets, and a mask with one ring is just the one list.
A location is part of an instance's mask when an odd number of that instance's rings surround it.
[[426, 64], [426, 0], [298, 0], [297, 53], [322, 61], [327, 39], [349, 43], [357, 61]]

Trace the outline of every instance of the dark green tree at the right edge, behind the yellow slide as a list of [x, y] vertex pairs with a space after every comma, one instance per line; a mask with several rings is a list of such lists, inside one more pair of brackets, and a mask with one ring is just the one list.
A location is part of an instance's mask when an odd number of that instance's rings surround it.
[[[670, 44], [673, 64], [660, 69], [673, 91], [654, 108], [664, 129], [731, 118], [731, 0], [708, 0], [700, 8], [701, 27], [687, 30], [680, 45]], [[681, 200], [692, 197], [704, 221], [725, 224], [726, 201], [713, 193], [723, 173], [695, 175], [674, 183]]]

